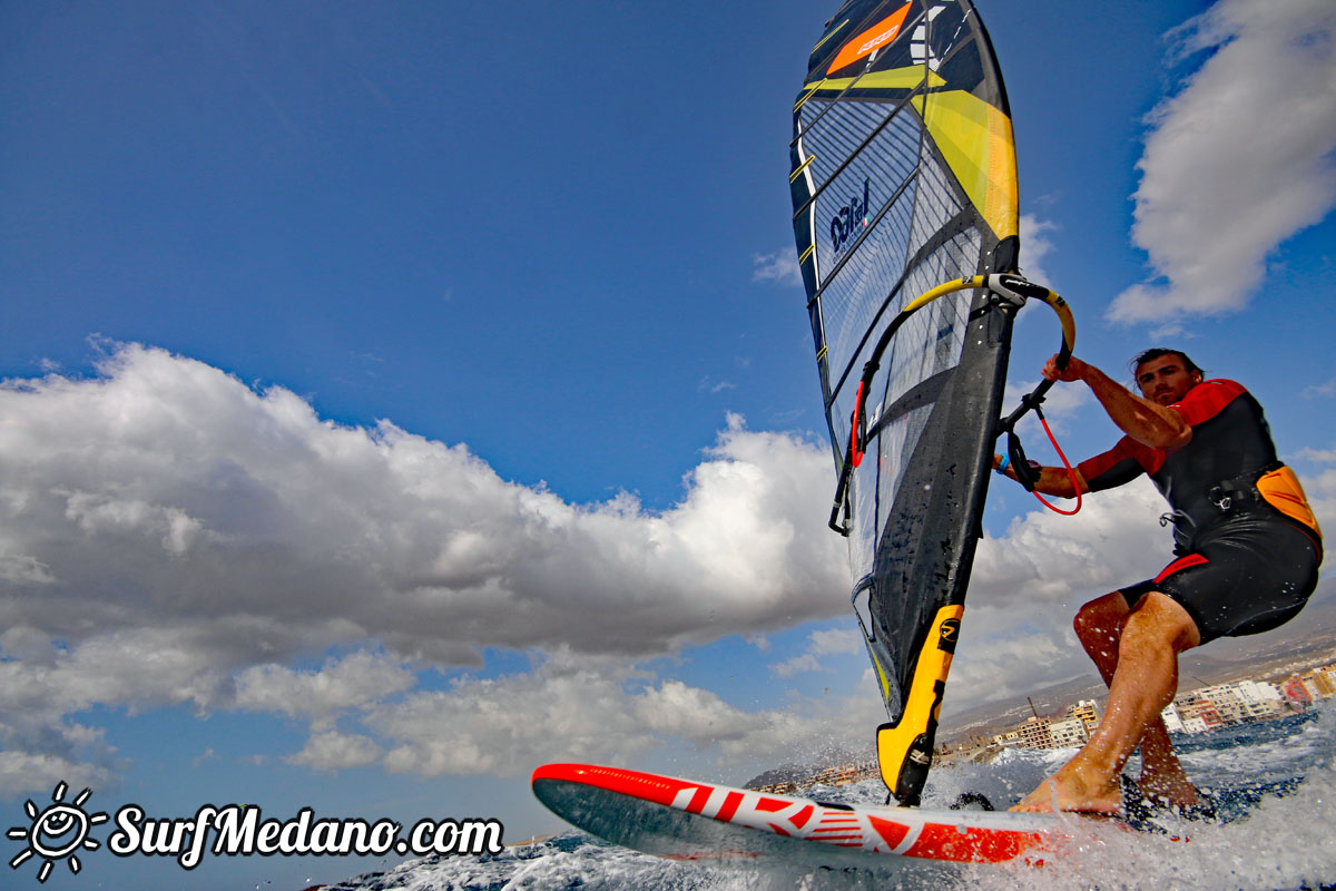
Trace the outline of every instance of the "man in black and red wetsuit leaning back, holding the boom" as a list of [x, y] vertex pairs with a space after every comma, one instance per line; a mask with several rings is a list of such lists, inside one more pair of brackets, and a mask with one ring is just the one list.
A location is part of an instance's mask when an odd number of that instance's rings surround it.
[[[1276, 448], [1261, 406], [1233, 381], [1205, 381], [1176, 350], [1134, 361], [1138, 397], [1071, 358], [1050, 381], [1083, 381], [1126, 434], [1075, 469], [1081, 492], [1150, 476], [1173, 509], [1177, 558], [1152, 580], [1090, 601], [1077, 613], [1081, 645], [1109, 684], [1105, 717], [1089, 743], [1021, 800], [1017, 811], [1117, 814], [1120, 773], [1141, 745], [1141, 792], [1192, 807], [1197, 789], [1169, 741], [1160, 711], [1178, 688], [1178, 653], [1222, 636], [1276, 628], [1317, 585], [1321, 533]], [[994, 468], [1015, 478], [1001, 456]], [[1074, 497], [1063, 468], [1037, 468], [1039, 492]]]

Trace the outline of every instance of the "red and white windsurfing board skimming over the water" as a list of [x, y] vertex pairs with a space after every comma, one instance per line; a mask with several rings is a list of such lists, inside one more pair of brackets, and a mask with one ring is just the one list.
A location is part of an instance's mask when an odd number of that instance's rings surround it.
[[800, 862], [941, 871], [1023, 863], [1070, 840], [1043, 814], [922, 811], [831, 804], [593, 764], [546, 764], [533, 793], [568, 823], [616, 844], [679, 860]]

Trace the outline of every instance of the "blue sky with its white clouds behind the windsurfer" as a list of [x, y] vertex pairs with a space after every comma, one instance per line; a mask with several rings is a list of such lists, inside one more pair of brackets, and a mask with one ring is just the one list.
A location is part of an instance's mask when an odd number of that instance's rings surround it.
[[[786, 184], [831, 12], [7, 4], [0, 824], [68, 780], [518, 839], [546, 760], [870, 741]], [[982, 13], [1078, 353], [1242, 381], [1336, 525], [1329, 4]], [[1017, 391], [1057, 339], [1022, 315]], [[990, 494], [949, 711], [1081, 673], [1070, 612], [1168, 554], [1146, 486], [1035, 510]]]

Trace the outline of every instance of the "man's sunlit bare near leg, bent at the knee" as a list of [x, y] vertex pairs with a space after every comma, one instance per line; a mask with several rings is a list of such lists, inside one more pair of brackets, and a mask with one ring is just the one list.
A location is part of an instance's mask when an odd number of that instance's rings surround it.
[[1109, 705], [1090, 741], [1013, 810], [1114, 814], [1118, 773], [1178, 689], [1178, 653], [1201, 643], [1188, 612], [1160, 592], [1130, 610], [1118, 637]]

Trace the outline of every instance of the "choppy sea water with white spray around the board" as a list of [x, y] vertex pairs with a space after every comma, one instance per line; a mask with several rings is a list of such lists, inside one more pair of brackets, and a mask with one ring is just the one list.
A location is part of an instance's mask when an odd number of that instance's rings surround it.
[[[896, 878], [870, 858], [867, 870], [783, 864], [695, 866], [636, 854], [569, 831], [496, 858], [457, 856], [403, 863], [351, 879], [349, 891], [937, 891], [981, 888], [1201, 888], [1210, 891], [1321, 888], [1336, 884], [1336, 700], [1287, 719], [1181, 737], [1178, 751], [1197, 784], [1222, 797], [1221, 823], [1168, 819], [1169, 834], [1104, 832], [1097, 842], [1050, 859], [1042, 868], [962, 867], [953, 880]], [[937, 769], [923, 807], [946, 808], [962, 792], [982, 792], [999, 807], [1055, 771], [1071, 749], [1010, 749], [991, 764]], [[1137, 764], [1129, 765], [1136, 776]], [[879, 804], [884, 787], [868, 780], [804, 792], [822, 800]], [[1065, 818], [1079, 820], [1079, 818]], [[1176, 831], [1181, 828], [1181, 835]], [[1184, 840], [1188, 838], [1189, 840]]]

